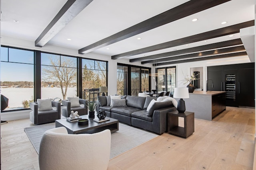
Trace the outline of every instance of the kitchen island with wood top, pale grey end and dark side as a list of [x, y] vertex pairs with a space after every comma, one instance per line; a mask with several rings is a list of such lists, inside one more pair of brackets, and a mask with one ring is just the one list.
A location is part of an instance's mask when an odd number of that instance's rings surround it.
[[194, 112], [197, 119], [211, 121], [213, 117], [226, 110], [226, 92], [224, 91], [194, 91], [189, 93], [188, 99], [183, 100], [186, 111]]

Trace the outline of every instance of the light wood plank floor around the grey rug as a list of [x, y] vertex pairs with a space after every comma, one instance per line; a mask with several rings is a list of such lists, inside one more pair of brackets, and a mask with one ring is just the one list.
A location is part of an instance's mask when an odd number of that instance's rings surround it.
[[[39, 169], [24, 132], [31, 125], [29, 119], [1, 125], [2, 170]], [[213, 121], [195, 119], [187, 139], [164, 133], [112, 158], [108, 170], [252, 170], [254, 134], [255, 109], [227, 107]]]

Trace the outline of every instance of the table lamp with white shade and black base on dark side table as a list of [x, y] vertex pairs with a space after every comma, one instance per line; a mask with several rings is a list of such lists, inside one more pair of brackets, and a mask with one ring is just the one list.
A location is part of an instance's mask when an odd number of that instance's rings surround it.
[[184, 113], [186, 107], [183, 99], [189, 98], [188, 88], [174, 88], [173, 98], [180, 98], [178, 101], [177, 110], [179, 113]]

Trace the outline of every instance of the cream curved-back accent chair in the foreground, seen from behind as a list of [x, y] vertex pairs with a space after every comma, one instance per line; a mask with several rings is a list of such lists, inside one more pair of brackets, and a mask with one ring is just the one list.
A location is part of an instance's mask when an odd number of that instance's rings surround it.
[[46, 131], [39, 149], [40, 170], [106, 170], [110, 158], [109, 129], [68, 134], [65, 127]]

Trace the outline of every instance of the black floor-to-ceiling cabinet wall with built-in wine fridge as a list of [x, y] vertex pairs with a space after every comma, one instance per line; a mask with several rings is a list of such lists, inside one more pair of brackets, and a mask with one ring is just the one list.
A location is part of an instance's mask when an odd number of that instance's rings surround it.
[[226, 106], [255, 107], [254, 69], [254, 63], [207, 67], [208, 90], [226, 91]]

